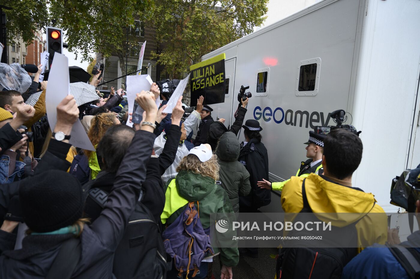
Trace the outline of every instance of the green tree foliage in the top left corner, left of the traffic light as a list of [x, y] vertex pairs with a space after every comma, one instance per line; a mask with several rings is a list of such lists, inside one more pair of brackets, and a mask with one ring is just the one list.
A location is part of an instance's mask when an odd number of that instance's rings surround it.
[[44, 28], [48, 21], [48, 0], [0, 0], [0, 5], [12, 8], [3, 9], [6, 14], [7, 41], [21, 37], [26, 45], [34, 40], [34, 33]]

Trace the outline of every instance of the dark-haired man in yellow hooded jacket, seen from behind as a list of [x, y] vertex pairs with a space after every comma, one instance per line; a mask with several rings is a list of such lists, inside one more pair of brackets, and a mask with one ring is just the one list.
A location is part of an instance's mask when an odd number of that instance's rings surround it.
[[[309, 211], [324, 222], [331, 221], [332, 226], [354, 225], [357, 231], [356, 253], [373, 243], [384, 244], [388, 233], [387, 216], [373, 194], [352, 187], [352, 174], [362, 160], [362, 150], [362, 141], [356, 134], [345, 129], [331, 130], [324, 139], [323, 175], [293, 176], [281, 193], [282, 208], [286, 213]], [[315, 270], [316, 258], [308, 258], [307, 261], [311, 265], [313, 262], [312, 270]]]

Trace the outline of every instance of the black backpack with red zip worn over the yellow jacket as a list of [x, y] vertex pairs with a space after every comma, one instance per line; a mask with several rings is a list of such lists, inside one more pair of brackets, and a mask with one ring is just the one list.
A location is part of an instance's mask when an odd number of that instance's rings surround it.
[[[312, 212], [312, 209], [306, 196], [305, 180], [306, 178], [302, 183], [303, 208], [300, 212], [309, 213]], [[300, 221], [306, 222], [304, 220]], [[357, 239], [354, 239], [354, 235], [357, 235], [355, 223], [342, 228], [334, 227], [334, 233], [337, 232], [343, 239], [348, 238], [349, 243], [357, 241]], [[310, 236], [311, 234], [305, 232], [305, 235]], [[339, 279], [344, 266], [357, 255], [357, 248], [311, 248], [304, 246], [306, 245], [302, 245], [302, 248], [281, 248], [279, 250], [276, 264], [277, 279]], [[356, 247], [356, 245], [349, 244], [349, 247]]]

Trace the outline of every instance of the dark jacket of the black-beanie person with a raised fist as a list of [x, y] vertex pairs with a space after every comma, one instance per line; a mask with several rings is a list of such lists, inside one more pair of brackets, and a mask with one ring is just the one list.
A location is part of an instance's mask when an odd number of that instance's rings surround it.
[[[139, 198], [154, 139], [153, 133], [136, 132], [105, 209], [92, 225], [84, 226], [80, 236], [81, 258], [72, 278], [112, 278], [114, 252]], [[26, 236], [22, 249], [0, 256], [0, 278], [45, 278], [61, 244], [72, 236]]]

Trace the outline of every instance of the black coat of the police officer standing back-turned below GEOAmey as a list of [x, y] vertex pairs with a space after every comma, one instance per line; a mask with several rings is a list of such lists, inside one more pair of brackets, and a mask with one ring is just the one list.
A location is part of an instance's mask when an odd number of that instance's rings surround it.
[[262, 142], [255, 139], [250, 140], [244, 147], [241, 144], [241, 152], [238, 161], [242, 163], [249, 172], [251, 192], [248, 196], [239, 197], [239, 207], [248, 207], [254, 210], [268, 205], [271, 202], [271, 192], [268, 189], [260, 189], [257, 181], [262, 178], [268, 180], [268, 153]]

